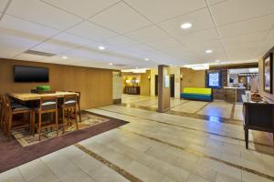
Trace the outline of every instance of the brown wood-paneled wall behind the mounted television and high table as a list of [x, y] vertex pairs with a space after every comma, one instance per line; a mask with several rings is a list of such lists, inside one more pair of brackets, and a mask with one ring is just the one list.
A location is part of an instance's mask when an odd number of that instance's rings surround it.
[[[48, 83], [15, 83], [14, 66], [42, 66], [49, 68]], [[81, 108], [106, 106], [112, 103], [112, 70], [81, 66], [63, 66], [29, 61], [0, 59], [0, 94], [30, 92], [39, 85], [53, 90], [81, 92]]]

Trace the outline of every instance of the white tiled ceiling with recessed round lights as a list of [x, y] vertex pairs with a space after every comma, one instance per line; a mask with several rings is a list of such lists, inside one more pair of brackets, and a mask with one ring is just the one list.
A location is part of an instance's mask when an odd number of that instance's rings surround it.
[[64, 65], [240, 62], [274, 45], [274, 0], [1, 0], [0, 17], [0, 57]]

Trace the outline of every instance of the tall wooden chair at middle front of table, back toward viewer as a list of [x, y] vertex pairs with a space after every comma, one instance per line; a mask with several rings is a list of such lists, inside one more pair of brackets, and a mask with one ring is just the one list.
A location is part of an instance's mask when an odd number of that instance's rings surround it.
[[[50, 114], [51, 117], [47, 117], [50, 121], [43, 121], [42, 116], [45, 114]], [[39, 105], [35, 109], [34, 117], [38, 116], [37, 124], [33, 124], [37, 127], [37, 133], [39, 135], [38, 140], [41, 140], [41, 132], [43, 128], [56, 128], [56, 133], [58, 136], [58, 97], [56, 96], [43, 96], [39, 100]], [[35, 121], [35, 119], [34, 119]], [[32, 134], [34, 135], [35, 129], [32, 129]]]

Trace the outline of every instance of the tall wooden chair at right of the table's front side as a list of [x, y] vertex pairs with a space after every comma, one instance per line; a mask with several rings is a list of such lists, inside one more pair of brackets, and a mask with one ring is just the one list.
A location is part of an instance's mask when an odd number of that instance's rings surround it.
[[78, 129], [78, 119], [77, 119], [77, 105], [78, 105], [78, 96], [76, 95], [67, 95], [63, 97], [63, 102], [59, 106], [61, 108], [62, 115], [62, 130], [63, 133], [66, 131], [66, 126], [76, 124]]

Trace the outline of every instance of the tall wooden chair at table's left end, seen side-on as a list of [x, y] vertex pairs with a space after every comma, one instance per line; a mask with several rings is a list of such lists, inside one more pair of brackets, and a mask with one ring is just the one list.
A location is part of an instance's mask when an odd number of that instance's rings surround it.
[[32, 123], [32, 109], [18, 104], [16, 102], [12, 102], [9, 96], [3, 96], [4, 103], [4, 119], [3, 119], [3, 128], [4, 133], [7, 138], [11, 136], [11, 129], [14, 122], [14, 116], [19, 114], [28, 114], [29, 115], [29, 126], [31, 127]]

